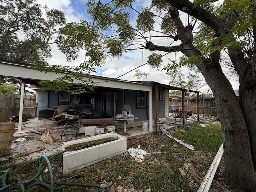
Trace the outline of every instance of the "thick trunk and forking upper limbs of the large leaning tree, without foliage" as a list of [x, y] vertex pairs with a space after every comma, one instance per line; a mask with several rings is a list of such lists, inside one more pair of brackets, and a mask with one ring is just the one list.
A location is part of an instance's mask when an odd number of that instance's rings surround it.
[[[178, 10], [202, 21], [212, 28], [218, 37], [230, 34], [230, 29], [233, 28], [239, 13], [232, 12], [222, 20], [200, 6], [193, 7], [193, 3], [189, 0], [166, 1], [171, 5], [169, 13], [182, 42], [183, 49], [180, 51], [187, 57], [203, 58], [202, 63], [195, 64], [214, 94], [222, 127], [226, 182], [237, 192], [254, 192], [256, 191], [256, 67], [254, 63], [256, 59], [250, 64], [246, 62], [241, 50], [229, 50], [230, 59], [239, 74], [239, 103], [230, 82], [222, 72], [219, 61], [220, 52], [215, 51], [209, 58], [202, 56], [202, 53], [192, 44], [191, 37], [186, 36], [186, 27], [180, 20]], [[253, 56], [256, 58], [255, 46]]]

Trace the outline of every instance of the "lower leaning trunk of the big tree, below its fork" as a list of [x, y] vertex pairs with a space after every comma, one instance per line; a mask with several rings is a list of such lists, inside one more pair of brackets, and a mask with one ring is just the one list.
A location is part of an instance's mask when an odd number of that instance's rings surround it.
[[[255, 146], [255, 142], [250, 143], [244, 114], [220, 65], [217, 62], [212, 64], [210, 68], [206, 66], [207, 64], [201, 64], [198, 68], [200, 68], [214, 94], [220, 118], [225, 180], [235, 191], [254, 192], [256, 191], [256, 172], [252, 160], [251, 145]], [[247, 99], [249, 97], [247, 96]]]

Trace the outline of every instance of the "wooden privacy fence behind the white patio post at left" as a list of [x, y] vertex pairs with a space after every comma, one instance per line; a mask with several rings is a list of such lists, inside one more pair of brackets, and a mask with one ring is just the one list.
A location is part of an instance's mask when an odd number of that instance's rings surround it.
[[[27, 118], [35, 118], [36, 96], [24, 96], [23, 114]], [[5, 98], [0, 96], [0, 122], [9, 120], [10, 117], [19, 115], [20, 96]]]

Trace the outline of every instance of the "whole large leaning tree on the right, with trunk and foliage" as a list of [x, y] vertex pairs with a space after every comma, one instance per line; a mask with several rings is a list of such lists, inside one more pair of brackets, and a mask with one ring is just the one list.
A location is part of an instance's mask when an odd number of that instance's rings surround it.
[[[222, 126], [226, 182], [239, 192], [256, 191], [256, 1], [152, 0], [141, 11], [134, 3], [88, 0], [92, 22], [70, 23], [63, 33], [98, 65], [107, 56], [146, 49], [148, 64], [159, 67], [161, 56], [181, 53], [180, 62], [164, 69], [188, 64], [200, 70]], [[239, 77], [239, 101], [222, 69], [223, 52]]]

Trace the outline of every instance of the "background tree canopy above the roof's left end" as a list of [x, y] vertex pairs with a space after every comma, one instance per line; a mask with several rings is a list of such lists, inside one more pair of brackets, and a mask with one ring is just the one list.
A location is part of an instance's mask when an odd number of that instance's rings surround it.
[[58, 27], [66, 23], [66, 18], [63, 12], [49, 10], [47, 6], [44, 11], [45, 14], [34, 0], [1, 0], [2, 60], [47, 64], [47, 58], [51, 57], [50, 44], [63, 37]]

